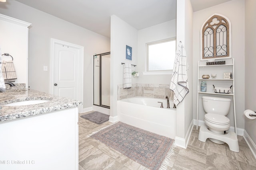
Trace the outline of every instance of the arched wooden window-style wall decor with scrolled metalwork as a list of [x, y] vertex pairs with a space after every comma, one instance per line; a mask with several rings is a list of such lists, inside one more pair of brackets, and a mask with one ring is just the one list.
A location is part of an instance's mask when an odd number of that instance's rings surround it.
[[202, 26], [202, 59], [218, 59], [230, 57], [230, 22], [219, 15], [211, 16]]

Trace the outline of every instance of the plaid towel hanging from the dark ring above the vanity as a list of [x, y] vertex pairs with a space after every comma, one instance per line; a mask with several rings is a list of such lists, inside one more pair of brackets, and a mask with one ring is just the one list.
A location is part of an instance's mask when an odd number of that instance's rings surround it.
[[4, 80], [8, 82], [14, 82], [17, 79], [15, 67], [13, 61], [2, 61], [2, 73]]

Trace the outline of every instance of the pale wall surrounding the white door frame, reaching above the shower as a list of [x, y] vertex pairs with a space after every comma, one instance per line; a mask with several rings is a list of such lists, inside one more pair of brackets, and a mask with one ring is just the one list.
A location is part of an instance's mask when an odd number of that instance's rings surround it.
[[84, 46], [84, 108], [91, 107], [93, 95], [93, 55], [110, 51], [110, 39], [56, 18], [17, 1], [0, 3], [0, 13], [32, 23], [29, 28], [29, 86], [49, 92], [50, 39]]

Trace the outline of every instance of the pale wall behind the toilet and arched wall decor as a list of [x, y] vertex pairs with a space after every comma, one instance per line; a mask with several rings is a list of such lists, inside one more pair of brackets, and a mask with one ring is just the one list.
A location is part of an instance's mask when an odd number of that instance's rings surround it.
[[[200, 61], [200, 29], [202, 24], [212, 14], [222, 14], [226, 16], [232, 25], [232, 59], [235, 60], [234, 70], [234, 86], [235, 86], [235, 102], [236, 102], [236, 125], [238, 128], [244, 129], [244, 0], [232, 0], [226, 3], [216, 5], [204, 10], [194, 12], [193, 16], [193, 118], [196, 119], [196, 104], [197, 104], [197, 68]], [[226, 62], [231, 62], [232, 59], [225, 59]], [[233, 105], [232, 105], [233, 106]], [[234, 111], [230, 107], [228, 118], [231, 126], [234, 127]], [[202, 103], [199, 102], [198, 119], [204, 121], [204, 110]]]

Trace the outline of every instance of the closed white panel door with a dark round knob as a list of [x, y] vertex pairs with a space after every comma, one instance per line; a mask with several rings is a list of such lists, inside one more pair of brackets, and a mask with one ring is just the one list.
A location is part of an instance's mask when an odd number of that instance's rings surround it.
[[79, 50], [54, 45], [54, 95], [78, 100]]

